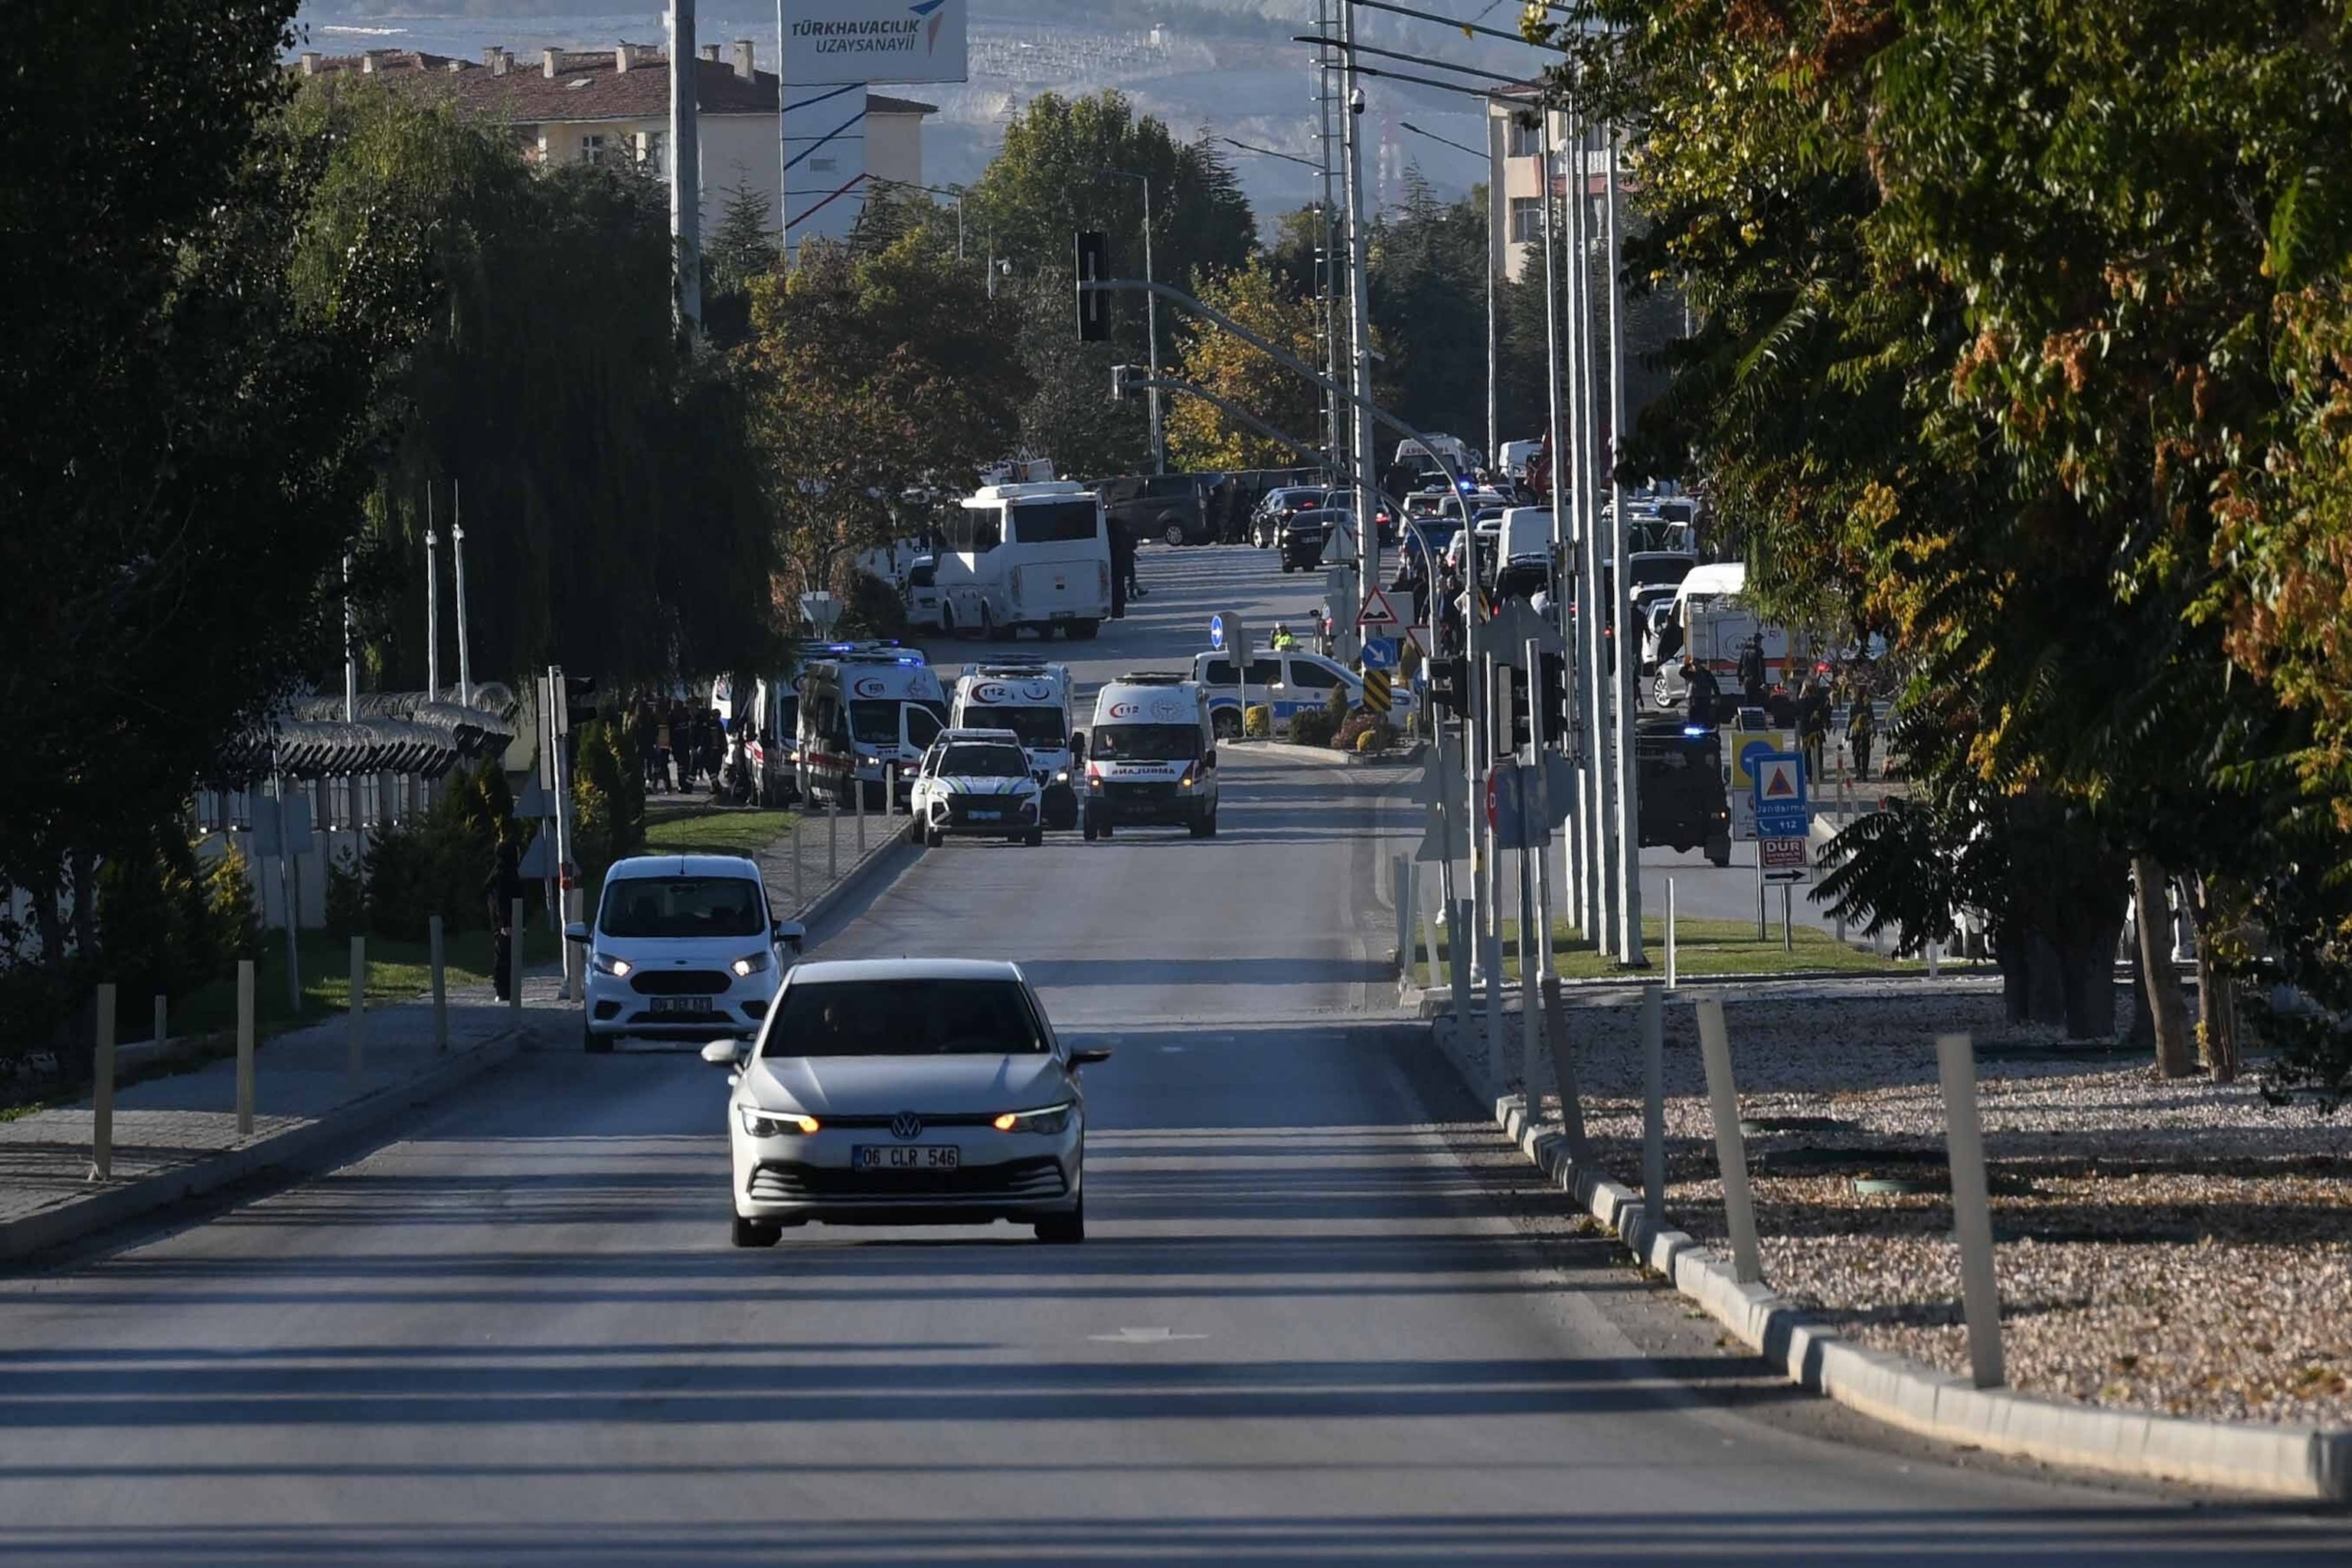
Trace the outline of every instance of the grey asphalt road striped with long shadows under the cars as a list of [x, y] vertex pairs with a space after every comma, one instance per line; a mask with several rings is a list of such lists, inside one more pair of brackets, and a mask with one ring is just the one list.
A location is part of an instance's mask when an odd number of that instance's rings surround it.
[[1522, 1241], [1376, 1011], [1388, 780], [1225, 783], [1216, 842], [950, 844], [818, 933], [1018, 957], [1117, 1048], [1087, 1246], [734, 1251], [722, 1074], [524, 1058], [339, 1173], [0, 1281], [0, 1559], [2347, 1561], [2340, 1523], [1828, 1443], [1635, 1352], [1642, 1291]]

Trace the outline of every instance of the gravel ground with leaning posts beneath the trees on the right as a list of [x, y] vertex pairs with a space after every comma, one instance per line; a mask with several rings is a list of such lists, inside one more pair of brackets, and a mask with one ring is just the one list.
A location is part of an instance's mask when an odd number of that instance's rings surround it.
[[[2352, 1425], [2352, 1112], [2272, 1107], [2251, 1081], [2161, 1084], [2145, 1053], [2063, 1048], [2053, 1030], [2011, 1027], [1985, 990], [1724, 1001], [1740, 1114], [1764, 1121], [1748, 1164], [1778, 1291], [1865, 1345], [1966, 1371], [1933, 1044], [1966, 1030], [2009, 1380], [2171, 1415]], [[1588, 1128], [1602, 1166], [1632, 1180], [1635, 1009], [1571, 1006]], [[1512, 1018], [1512, 1063], [1517, 1039]], [[1719, 1241], [1689, 994], [1668, 1004], [1665, 1056], [1668, 1211]], [[1545, 1095], [1545, 1114], [1557, 1119], [1557, 1098]], [[1853, 1178], [1870, 1173], [1929, 1190], [1863, 1197]]]

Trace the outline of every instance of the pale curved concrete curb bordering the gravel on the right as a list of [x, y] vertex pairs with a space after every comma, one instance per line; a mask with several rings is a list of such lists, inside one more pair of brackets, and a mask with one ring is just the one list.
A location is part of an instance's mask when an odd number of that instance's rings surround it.
[[[1468, 1072], [1463, 1077], [1468, 1079]], [[1780, 1366], [1790, 1382], [1825, 1394], [1849, 1410], [1919, 1436], [2110, 1476], [2352, 1502], [2352, 1432], [2251, 1427], [2060, 1403], [2009, 1389], [1978, 1389], [1966, 1378], [1867, 1349], [1809, 1321], [1799, 1307], [1766, 1286], [1738, 1284], [1731, 1260], [1717, 1258], [1689, 1234], [1651, 1232], [1642, 1194], [1597, 1168], [1576, 1168], [1569, 1161], [1566, 1138], [1531, 1126], [1526, 1105], [1517, 1095], [1494, 1100], [1494, 1119], [1555, 1187], [1621, 1237], [1635, 1258], [1670, 1279], [1682, 1295], [1705, 1307], [1766, 1361]]]

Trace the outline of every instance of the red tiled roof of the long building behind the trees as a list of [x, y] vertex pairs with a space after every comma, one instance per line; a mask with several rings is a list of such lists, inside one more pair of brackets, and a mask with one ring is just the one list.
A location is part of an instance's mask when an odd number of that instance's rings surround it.
[[[513, 56], [503, 73], [480, 61], [421, 54], [414, 49], [376, 52], [369, 75], [386, 82], [445, 87], [461, 108], [508, 125], [543, 120], [666, 120], [670, 113], [670, 61], [661, 49], [637, 47], [635, 63], [619, 68], [616, 49], [555, 56], [555, 75], [541, 56]], [[694, 101], [703, 115], [776, 113], [776, 73], [757, 71], [750, 80], [736, 75], [724, 59], [694, 61]], [[313, 75], [360, 75], [365, 56], [336, 54], [315, 63]]]

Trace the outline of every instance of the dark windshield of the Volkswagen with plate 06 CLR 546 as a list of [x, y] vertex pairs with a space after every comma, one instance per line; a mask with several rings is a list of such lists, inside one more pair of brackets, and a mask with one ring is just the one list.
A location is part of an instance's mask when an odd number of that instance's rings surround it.
[[1014, 980], [818, 980], [783, 987], [762, 1056], [1042, 1056]]

